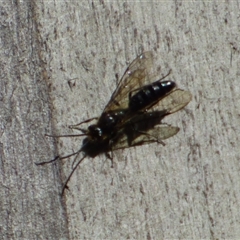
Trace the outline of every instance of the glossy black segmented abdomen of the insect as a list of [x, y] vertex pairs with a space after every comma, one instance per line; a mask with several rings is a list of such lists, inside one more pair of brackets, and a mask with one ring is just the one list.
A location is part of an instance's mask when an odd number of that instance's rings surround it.
[[167, 93], [171, 92], [176, 87], [175, 82], [162, 81], [143, 87], [140, 91], [130, 97], [129, 108], [132, 111], [140, 111], [147, 108], [154, 102], [159, 101]]

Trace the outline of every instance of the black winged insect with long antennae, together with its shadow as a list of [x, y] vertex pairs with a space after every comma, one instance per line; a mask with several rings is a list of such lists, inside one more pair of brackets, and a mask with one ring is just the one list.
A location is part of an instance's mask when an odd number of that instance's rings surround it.
[[[62, 157], [57, 156], [51, 161], [36, 163], [43, 165], [71, 156], [75, 156], [75, 163], [79, 154], [84, 153], [65, 181], [62, 194], [72, 174], [86, 156], [95, 157], [100, 153], [152, 142], [163, 143], [163, 139], [177, 134], [178, 127], [160, 124], [161, 120], [185, 107], [191, 101], [192, 95], [188, 91], [178, 89], [173, 81], [163, 81], [171, 71], [153, 82], [155, 76], [151, 72], [152, 62], [152, 52], [144, 52], [138, 56], [126, 69], [100, 117], [70, 126], [82, 134], [47, 135], [86, 136], [78, 151]], [[81, 127], [92, 120], [97, 121], [87, 129]]]

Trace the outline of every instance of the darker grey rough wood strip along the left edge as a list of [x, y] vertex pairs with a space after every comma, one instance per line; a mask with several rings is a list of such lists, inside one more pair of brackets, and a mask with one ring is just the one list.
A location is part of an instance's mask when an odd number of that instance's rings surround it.
[[67, 239], [66, 213], [53, 157], [48, 83], [34, 3], [1, 4], [1, 239]]

